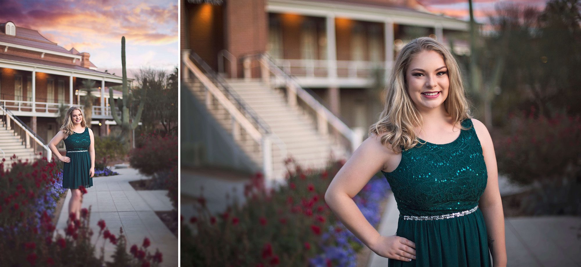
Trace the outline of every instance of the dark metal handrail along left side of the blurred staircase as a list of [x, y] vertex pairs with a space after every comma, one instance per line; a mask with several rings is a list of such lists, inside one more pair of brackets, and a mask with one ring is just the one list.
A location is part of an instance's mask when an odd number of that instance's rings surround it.
[[249, 117], [249, 119], [256, 123], [256, 125], [262, 129], [264, 133], [271, 133], [270, 127], [268, 127], [268, 125], [263, 120], [261, 120], [261, 118], [256, 113], [254, 113], [254, 110], [250, 109], [250, 107], [241, 100], [241, 97], [238, 95], [238, 93], [232, 90], [232, 88], [230, 88], [228, 85], [228, 82], [226, 82], [224, 78], [220, 77], [220, 75], [217, 75], [216, 72], [212, 70], [212, 68], [202, 59], [202, 57], [193, 52], [190, 57], [194, 60], [194, 62], [198, 63], [198, 65], [203, 68], [206, 73], [206, 77], [211, 78], [210, 80], [213, 80], [214, 84], [219, 89], [224, 91], [226, 95], [231, 98], [231, 100], [234, 100], [234, 103], [236, 103], [238, 108], [243, 111], [245, 117]]

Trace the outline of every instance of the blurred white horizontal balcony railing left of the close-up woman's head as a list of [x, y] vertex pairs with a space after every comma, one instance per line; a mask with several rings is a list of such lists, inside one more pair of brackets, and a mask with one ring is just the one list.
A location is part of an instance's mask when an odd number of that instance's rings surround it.
[[[295, 77], [328, 77], [329, 60], [272, 59], [285, 73]], [[335, 60], [337, 77], [369, 78], [375, 68], [385, 68], [385, 62]]]

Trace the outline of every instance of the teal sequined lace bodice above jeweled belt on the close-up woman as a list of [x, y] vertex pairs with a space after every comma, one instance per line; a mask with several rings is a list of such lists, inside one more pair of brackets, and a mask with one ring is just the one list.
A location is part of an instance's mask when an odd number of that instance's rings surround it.
[[470, 210], [486, 189], [487, 172], [482, 146], [472, 120], [462, 121], [456, 140], [433, 144], [419, 139], [401, 153], [401, 162], [384, 172], [402, 215], [433, 216]]

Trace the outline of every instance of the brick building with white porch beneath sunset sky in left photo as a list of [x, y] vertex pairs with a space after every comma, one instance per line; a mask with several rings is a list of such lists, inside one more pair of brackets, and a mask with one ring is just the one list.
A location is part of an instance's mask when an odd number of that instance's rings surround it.
[[[78, 105], [83, 81], [95, 81], [96, 97], [91, 128], [96, 135], [109, 133], [116, 124], [110, 113], [109, 86], [122, 78], [96, 70], [89, 53], [64, 49], [38, 31], [17, 27], [12, 21], [0, 24], [0, 104], [20, 118], [38, 136], [49, 142], [62, 122], [59, 107]], [[114, 98], [121, 98], [114, 91]]]

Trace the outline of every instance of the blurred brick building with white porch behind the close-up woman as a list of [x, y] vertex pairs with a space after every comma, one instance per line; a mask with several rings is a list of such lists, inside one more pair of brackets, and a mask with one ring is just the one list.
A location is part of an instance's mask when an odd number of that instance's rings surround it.
[[182, 0], [181, 6], [182, 49], [229, 78], [243, 76], [244, 56], [266, 52], [349, 127], [367, 128], [376, 119], [379, 111], [368, 105], [372, 73], [389, 71], [411, 39], [429, 36], [469, 53], [467, 21], [433, 14], [415, 0]]

